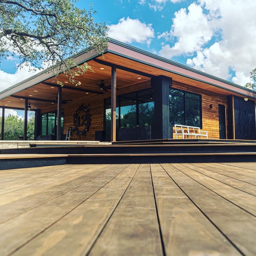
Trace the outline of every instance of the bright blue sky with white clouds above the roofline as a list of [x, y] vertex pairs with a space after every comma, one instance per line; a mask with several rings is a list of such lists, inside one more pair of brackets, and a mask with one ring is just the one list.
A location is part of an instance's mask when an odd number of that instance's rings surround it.
[[[256, 1], [79, 0], [109, 36], [148, 52], [244, 85], [256, 67]], [[17, 60], [0, 65], [0, 90], [26, 79]]]

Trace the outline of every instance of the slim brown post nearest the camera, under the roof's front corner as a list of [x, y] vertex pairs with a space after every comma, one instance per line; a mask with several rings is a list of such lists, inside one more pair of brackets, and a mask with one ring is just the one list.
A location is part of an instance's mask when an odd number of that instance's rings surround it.
[[111, 141], [116, 141], [116, 67], [111, 69]]

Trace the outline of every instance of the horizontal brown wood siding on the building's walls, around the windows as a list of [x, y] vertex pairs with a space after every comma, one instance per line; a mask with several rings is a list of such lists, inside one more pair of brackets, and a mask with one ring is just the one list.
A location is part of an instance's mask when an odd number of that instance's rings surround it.
[[[122, 95], [150, 87], [150, 80], [144, 81], [117, 90], [116, 95]], [[189, 91], [192, 93], [198, 93], [202, 96], [202, 129], [208, 131], [209, 139], [219, 139], [218, 104], [225, 105], [227, 109], [227, 96], [214, 93], [209, 90], [203, 90], [190, 85], [182, 84], [177, 81], [173, 81], [173, 88]], [[111, 91], [108, 91], [102, 95], [95, 96], [90, 96], [89, 94], [81, 99], [62, 105], [62, 109], [64, 110], [64, 133], [66, 133], [68, 127], [74, 128], [73, 115], [77, 108], [79, 108], [79, 106], [82, 104], [84, 104], [84, 106], [89, 105], [88, 108], [90, 109], [89, 113], [91, 115], [89, 131], [87, 132], [86, 136], [78, 135], [76, 132], [72, 132], [71, 140], [95, 140], [95, 131], [104, 130], [104, 99], [110, 97]], [[213, 105], [213, 108], [210, 108], [211, 104]], [[42, 109], [41, 113], [47, 113], [54, 110], [54, 107]]]

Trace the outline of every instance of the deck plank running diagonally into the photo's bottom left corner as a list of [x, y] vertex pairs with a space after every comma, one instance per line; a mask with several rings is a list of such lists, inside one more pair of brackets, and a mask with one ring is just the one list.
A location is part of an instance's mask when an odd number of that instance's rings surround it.
[[[95, 192], [105, 186], [113, 177], [125, 169], [127, 165], [113, 165], [105, 169], [101, 175], [95, 174], [90, 182], [52, 198], [21, 215], [17, 215], [0, 224], [0, 254], [6, 255], [22, 247], [27, 241], [38, 236], [39, 233], [49, 228], [53, 223], [59, 221], [78, 205], [90, 198]], [[67, 175], [68, 177], [68, 175]], [[15, 236], [15, 239], [13, 237]], [[27, 254], [28, 255], [28, 254]]]

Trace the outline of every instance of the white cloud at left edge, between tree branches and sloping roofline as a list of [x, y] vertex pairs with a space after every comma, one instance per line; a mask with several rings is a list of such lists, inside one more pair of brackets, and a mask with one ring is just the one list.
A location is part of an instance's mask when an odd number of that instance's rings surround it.
[[28, 64], [27, 66], [18, 67], [15, 74], [9, 74], [0, 70], [0, 92], [35, 74], [31, 69], [33, 67]]

